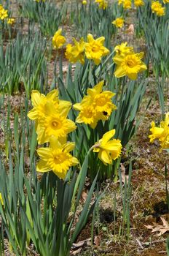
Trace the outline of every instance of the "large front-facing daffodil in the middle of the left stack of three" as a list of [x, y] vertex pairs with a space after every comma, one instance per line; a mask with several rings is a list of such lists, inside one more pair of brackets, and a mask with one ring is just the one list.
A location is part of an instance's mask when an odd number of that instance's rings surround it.
[[36, 129], [39, 144], [48, 142], [52, 135], [59, 140], [63, 140], [69, 132], [76, 129], [74, 121], [67, 118], [68, 111], [69, 108], [65, 108], [64, 105], [58, 105], [55, 108], [52, 102], [47, 102], [46, 115], [39, 119]]

